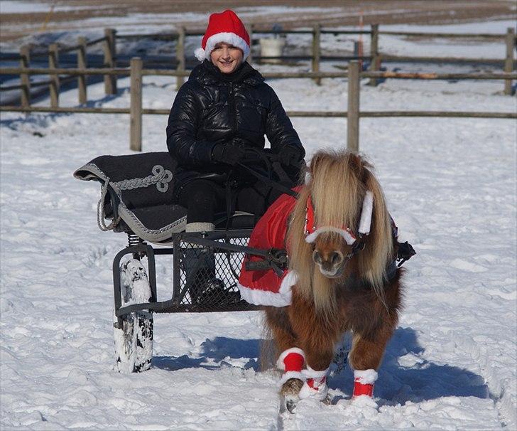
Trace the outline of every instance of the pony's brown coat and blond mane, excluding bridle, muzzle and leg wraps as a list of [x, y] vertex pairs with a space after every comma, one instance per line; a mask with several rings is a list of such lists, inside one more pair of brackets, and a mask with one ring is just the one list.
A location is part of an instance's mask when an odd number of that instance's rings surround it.
[[[300, 193], [288, 230], [290, 269], [298, 272], [288, 307], [266, 307], [266, 327], [277, 353], [299, 347], [306, 363], [325, 370], [334, 346], [345, 331], [353, 332], [349, 362], [357, 370], [377, 369], [398, 322], [401, 308], [401, 270], [389, 282], [386, 267], [395, 256], [391, 218], [379, 183], [359, 155], [347, 151], [319, 151], [310, 163], [310, 180]], [[352, 250], [335, 233], [323, 233], [313, 244], [305, 242], [305, 209], [309, 193], [317, 225], [348, 226], [355, 232], [366, 191], [374, 194], [371, 231], [364, 250], [346, 263], [342, 275], [322, 275], [312, 252], [321, 255]], [[285, 386], [285, 385], [284, 385]]]

